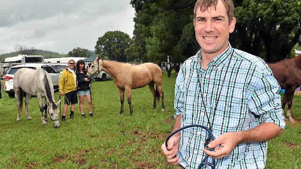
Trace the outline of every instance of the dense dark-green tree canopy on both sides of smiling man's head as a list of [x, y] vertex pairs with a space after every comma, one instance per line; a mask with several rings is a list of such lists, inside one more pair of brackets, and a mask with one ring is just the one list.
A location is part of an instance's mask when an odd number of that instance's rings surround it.
[[[131, 0], [135, 42], [144, 61], [181, 62], [200, 46], [195, 40], [196, 0]], [[275, 62], [290, 56], [301, 34], [300, 0], [234, 0], [233, 47]]]

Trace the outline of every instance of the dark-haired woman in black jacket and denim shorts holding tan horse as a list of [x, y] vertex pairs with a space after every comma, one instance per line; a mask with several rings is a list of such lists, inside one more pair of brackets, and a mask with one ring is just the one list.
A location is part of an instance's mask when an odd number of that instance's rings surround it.
[[76, 79], [77, 79], [77, 95], [79, 99], [79, 110], [82, 112], [82, 117], [86, 117], [84, 113], [84, 99], [86, 98], [89, 109], [89, 116], [93, 116], [93, 109], [90, 96], [90, 80], [87, 78], [85, 70], [85, 62], [80, 59], [76, 62]]

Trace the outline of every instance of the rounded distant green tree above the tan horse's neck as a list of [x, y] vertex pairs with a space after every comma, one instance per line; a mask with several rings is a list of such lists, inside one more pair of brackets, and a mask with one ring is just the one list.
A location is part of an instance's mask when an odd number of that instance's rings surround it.
[[101, 57], [108, 57], [111, 60], [126, 62], [125, 50], [131, 44], [128, 34], [121, 31], [108, 31], [98, 38], [95, 46], [95, 53]]

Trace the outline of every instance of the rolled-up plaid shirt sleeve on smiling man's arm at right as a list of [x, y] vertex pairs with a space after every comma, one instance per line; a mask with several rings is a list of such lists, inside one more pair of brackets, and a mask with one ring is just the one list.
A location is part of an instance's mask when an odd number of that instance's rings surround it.
[[285, 128], [285, 119], [281, 108], [280, 86], [271, 70], [258, 73], [254, 92], [248, 99], [251, 112], [259, 116], [259, 123], [272, 122]]

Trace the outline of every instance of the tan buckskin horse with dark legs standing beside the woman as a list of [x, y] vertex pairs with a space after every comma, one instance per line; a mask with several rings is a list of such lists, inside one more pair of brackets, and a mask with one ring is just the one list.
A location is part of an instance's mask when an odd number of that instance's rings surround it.
[[[128, 63], [119, 63], [109, 60], [99, 60], [98, 57], [93, 61], [89, 71], [88, 77], [97, 75], [100, 71], [105, 71], [113, 77], [113, 81], [119, 89], [121, 108], [119, 115], [123, 113], [124, 90], [126, 90], [126, 97], [128, 99], [130, 115], [133, 114], [132, 109], [132, 91], [131, 89], [138, 89], [148, 85], [153, 97], [154, 108], [157, 107], [157, 101], [162, 100], [162, 111], [164, 111], [163, 91], [162, 91], [162, 73], [158, 65], [154, 63], [144, 63], [141, 65], [131, 65]], [[156, 84], [156, 90], [154, 88]]]

